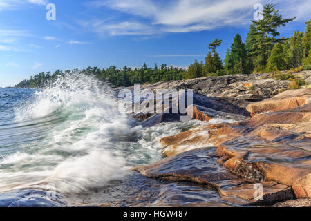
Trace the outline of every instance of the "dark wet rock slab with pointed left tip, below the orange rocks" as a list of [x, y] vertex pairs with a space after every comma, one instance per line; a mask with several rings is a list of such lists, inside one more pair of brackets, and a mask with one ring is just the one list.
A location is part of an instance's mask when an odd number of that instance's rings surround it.
[[[146, 177], [170, 182], [193, 182], [218, 192], [216, 202], [227, 205], [268, 205], [294, 198], [292, 188], [276, 182], [262, 182], [262, 195], [257, 198], [256, 182], [248, 182], [218, 164], [216, 148], [198, 148], [164, 158], [134, 170]], [[210, 201], [213, 198], [210, 198]]]

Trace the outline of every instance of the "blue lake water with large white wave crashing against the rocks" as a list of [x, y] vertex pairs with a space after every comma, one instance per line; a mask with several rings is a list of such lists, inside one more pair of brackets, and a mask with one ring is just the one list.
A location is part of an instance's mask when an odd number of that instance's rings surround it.
[[132, 166], [160, 160], [161, 137], [202, 124], [143, 128], [118, 110], [122, 100], [107, 84], [81, 73], [41, 90], [0, 89], [0, 98], [0, 198], [53, 190], [69, 205], [83, 204], [80, 194], [124, 182]]

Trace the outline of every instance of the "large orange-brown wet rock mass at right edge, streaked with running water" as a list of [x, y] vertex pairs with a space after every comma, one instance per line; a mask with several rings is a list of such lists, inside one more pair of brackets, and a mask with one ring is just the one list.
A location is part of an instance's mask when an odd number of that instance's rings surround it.
[[218, 164], [243, 180], [278, 182], [292, 186], [296, 198], [310, 198], [310, 125], [311, 104], [307, 104], [233, 124], [197, 126], [160, 142], [169, 156], [214, 145]]

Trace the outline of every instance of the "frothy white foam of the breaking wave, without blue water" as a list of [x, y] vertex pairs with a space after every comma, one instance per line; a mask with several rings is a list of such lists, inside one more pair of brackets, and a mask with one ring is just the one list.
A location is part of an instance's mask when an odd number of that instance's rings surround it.
[[46, 121], [57, 124], [18, 152], [2, 155], [0, 191], [55, 186], [60, 193], [78, 193], [121, 179], [125, 160], [113, 142], [131, 133], [133, 122], [106, 90], [92, 77], [70, 73], [15, 108], [19, 133], [32, 135]]

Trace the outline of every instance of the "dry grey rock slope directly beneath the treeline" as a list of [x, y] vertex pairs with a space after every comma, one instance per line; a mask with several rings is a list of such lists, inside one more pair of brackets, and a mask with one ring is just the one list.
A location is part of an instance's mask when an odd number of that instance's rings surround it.
[[[154, 92], [157, 89], [192, 89], [195, 94], [208, 96], [209, 99], [213, 97], [215, 102], [222, 101], [231, 104], [235, 108], [240, 108], [238, 112], [232, 111], [232, 108], [230, 108], [229, 111], [224, 112], [249, 116], [249, 112], [245, 110], [247, 105], [252, 102], [258, 102], [262, 99], [270, 98], [273, 95], [279, 94], [283, 90], [288, 90], [288, 84], [290, 84], [290, 81], [273, 79], [270, 77], [270, 74], [271, 73], [256, 73], [252, 75], [225, 75], [178, 81], [161, 81], [153, 84], [143, 84], [140, 86], [140, 89], [150, 89]], [[308, 81], [311, 76], [311, 70], [293, 73], [293, 75], [297, 75], [301, 77], [301, 79]], [[120, 89], [121, 88], [113, 89], [113, 93], [117, 95]], [[133, 86], [128, 89], [133, 90]], [[202, 104], [194, 104], [204, 106]], [[205, 107], [214, 109], [211, 106]], [[218, 109], [215, 110], [222, 111]]]

